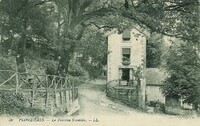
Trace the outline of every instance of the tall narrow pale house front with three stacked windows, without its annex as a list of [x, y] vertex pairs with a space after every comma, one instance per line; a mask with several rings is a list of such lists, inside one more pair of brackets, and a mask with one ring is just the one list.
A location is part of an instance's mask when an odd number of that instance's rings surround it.
[[[113, 95], [125, 95], [127, 101], [145, 105], [146, 37], [135, 29], [117, 30], [108, 35], [107, 87]], [[138, 77], [138, 76], [140, 77]], [[117, 94], [117, 95], [116, 95]], [[130, 98], [131, 97], [131, 98]]]

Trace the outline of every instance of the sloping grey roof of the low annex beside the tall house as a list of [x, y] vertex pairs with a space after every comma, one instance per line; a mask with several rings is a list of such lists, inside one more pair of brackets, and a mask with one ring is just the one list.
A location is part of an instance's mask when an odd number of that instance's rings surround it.
[[158, 68], [146, 69], [146, 84], [147, 85], [162, 85], [165, 80], [166, 74]]

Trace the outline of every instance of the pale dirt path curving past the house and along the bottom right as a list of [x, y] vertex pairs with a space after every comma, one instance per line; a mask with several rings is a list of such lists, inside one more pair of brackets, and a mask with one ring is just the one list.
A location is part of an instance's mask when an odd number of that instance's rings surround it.
[[197, 117], [177, 117], [164, 114], [148, 114], [140, 112], [126, 105], [112, 101], [105, 95], [105, 81], [97, 80], [83, 84], [79, 87], [80, 110], [74, 117], [97, 118], [100, 122], [112, 123], [114, 125], [136, 124], [152, 126], [200, 126]]

